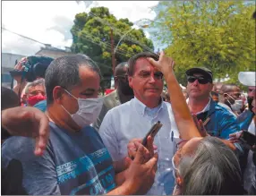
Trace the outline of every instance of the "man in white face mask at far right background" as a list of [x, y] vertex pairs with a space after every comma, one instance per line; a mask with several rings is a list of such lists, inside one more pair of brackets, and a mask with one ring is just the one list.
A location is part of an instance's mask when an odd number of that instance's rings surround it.
[[219, 90], [219, 105], [225, 107], [235, 116], [241, 114], [243, 109], [243, 100], [241, 89], [235, 84], [224, 84]]

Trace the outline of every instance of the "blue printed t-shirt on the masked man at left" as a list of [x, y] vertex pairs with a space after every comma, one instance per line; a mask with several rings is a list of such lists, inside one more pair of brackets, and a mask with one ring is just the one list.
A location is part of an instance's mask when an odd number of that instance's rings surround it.
[[115, 188], [112, 158], [94, 128], [69, 132], [50, 123], [43, 156], [34, 155], [34, 144], [33, 139], [18, 136], [4, 141], [2, 167], [6, 169], [10, 162], [18, 161], [22, 174], [9, 174], [9, 187], [21, 185], [28, 194], [47, 195], [104, 194]]

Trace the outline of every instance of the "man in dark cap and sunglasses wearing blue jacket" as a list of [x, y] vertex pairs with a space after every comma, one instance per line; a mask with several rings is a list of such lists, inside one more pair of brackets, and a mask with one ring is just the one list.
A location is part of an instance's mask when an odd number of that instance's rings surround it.
[[[229, 134], [239, 130], [235, 116], [224, 107], [220, 107], [210, 98], [213, 87], [213, 74], [205, 67], [195, 67], [187, 70], [188, 106], [192, 115], [203, 122], [209, 135], [228, 140]], [[232, 145], [235, 152], [243, 152], [241, 145]]]

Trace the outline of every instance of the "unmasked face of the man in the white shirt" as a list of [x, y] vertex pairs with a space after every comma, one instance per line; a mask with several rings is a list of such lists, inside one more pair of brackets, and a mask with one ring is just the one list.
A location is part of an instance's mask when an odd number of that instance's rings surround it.
[[134, 66], [129, 85], [136, 98], [143, 103], [145, 100], [159, 99], [163, 91], [163, 74], [159, 72], [146, 58], [139, 58]]

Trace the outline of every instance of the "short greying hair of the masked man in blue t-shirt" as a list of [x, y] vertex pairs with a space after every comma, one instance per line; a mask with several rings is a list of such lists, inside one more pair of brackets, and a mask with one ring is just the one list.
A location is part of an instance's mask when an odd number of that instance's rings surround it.
[[87, 55], [67, 55], [56, 58], [47, 68], [46, 89], [47, 105], [53, 103], [53, 89], [55, 86], [61, 86], [64, 89], [71, 90], [73, 86], [80, 83], [79, 67], [87, 66], [92, 71], [100, 71], [98, 65]]

